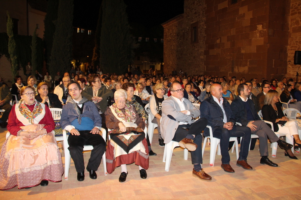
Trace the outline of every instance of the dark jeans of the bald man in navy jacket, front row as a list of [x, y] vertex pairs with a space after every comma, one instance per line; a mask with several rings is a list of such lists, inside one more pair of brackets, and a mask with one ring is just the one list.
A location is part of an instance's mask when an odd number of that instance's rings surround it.
[[220, 147], [222, 154], [222, 164], [230, 163], [230, 155], [228, 152], [230, 137], [242, 137], [240, 141], [240, 152], [238, 160], [247, 160], [249, 154], [249, 145], [251, 141], [251, 129], [249, 127], [234, 125], [232, 130], [218, 127], [213, 132], [213, 137], [220, 139]]

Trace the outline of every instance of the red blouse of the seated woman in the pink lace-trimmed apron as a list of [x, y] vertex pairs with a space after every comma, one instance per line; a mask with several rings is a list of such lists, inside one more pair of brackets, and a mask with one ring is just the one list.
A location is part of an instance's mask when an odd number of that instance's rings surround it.
[[[34, 109], [35, 104], [33, 104], [31, 106], [28, 106], [28, 105], [26, 105], [26, 106], [32, 112], [33, 109]], [[16, 107], [16, 104], [13, 106], [13, 108], [11, 109], [11, 112], [9, 113], [7, 130], [12, 135], [17, 136], [18, 131], [21, 130], [20, 126], [24, 126], [24, 124], [21, 123], [17, 119], [17, 115], [16, 115], [16, 112], [15, 112], [15, 107]], [[50, 109], [48, 108], [47, 105], [45, 105], [45, 116], [42, 118], [42, 120], [39, 122], [39, 124], [45, 124], [45, 126], [43, 128], [46, 129], [47, 133], [54, 130], [54, 120], [52, 118], [51, 111], [50, 111]]]

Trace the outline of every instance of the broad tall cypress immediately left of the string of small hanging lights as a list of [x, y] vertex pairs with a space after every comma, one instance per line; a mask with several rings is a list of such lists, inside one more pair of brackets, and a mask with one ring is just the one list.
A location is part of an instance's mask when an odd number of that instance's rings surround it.
[[57, 23], [51, 49], [51, 74], [58, 71], [65, 73], [70, 70], [73, 34], [73, 0], [59, 1]]

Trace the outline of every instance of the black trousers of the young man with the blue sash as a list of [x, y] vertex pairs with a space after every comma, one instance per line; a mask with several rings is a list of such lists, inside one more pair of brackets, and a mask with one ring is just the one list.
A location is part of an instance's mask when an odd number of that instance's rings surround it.
[[[97, 171], [101, 157], [106, 151], [106, 142], [99, 134], [89, 133], [91, 130], [79, 131], [80, 135], [69, 135], [68, 144], [71, 158], [74, 161], [76, 172], [84, 172], [84, 156], [82, 154], [84, 145], [92, 145], [91, 156], [87, 165], [87, 168], [93, 171]], [[105, 162], [105, 160], [103, 160]]]

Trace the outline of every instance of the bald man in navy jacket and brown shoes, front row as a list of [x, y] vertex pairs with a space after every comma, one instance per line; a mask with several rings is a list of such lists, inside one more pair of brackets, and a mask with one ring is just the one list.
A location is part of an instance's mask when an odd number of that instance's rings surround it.
[[[230, 155], [228, 152], [230, 137], [242, 137], [239, 158], [236, 165], [244, 169], [253, 169], [247, 163], [251, 129], [249, 127], [235, 125], [235, 116], [231, 111], [230, 103], [223, 97], [221, 85], [211, 85], [210, 94], [212, 96], [205, 99], [200, 106], [200, 116], [208, 120], [208, 125], [212, 127], [213, 137], [220, 139], [222, 169], [229, 173], [235, 172], [230, 166]], [[204, 136], [209, 136], [208, 128], [205, 128]]]

